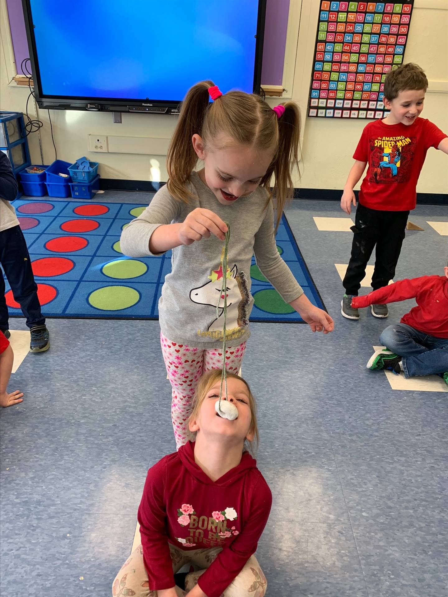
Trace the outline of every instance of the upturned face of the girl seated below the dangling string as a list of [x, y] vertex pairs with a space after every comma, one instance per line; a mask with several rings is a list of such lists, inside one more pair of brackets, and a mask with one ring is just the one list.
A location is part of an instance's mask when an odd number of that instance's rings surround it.
[[208, 390], [197, 417], [190, 421], [191, 432], [200, 431], [208, 436], [252, 441], [250, 395], [246, 384], [237, 378], [229, 377], [227, 396], [225, 395], [225, 384], [223, 384], [221, 400], [227, 399], [238, 409], [238, 418], [233, 421], [220, 417], [215, 410], [215, 404], [219, 401], [220, 386], [221, 380]]

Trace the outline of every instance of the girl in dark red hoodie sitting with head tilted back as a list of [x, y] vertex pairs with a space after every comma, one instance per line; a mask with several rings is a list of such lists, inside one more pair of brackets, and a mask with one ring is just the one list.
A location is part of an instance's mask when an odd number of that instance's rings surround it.
[[[148, 471], [138, 520], [142, 544], [122, 566], [112, 595], [136, 597], [263, 597], [266, 578], [254, 558], [272, 495], [245, 442], [258, 439], [254, 398], [241, 377], [227, 374], [238, 417], [215, 410], [222, 371], [198, 384], [189, 429], [179, 451]], [[199, 570], [177, 574], [185, 564]], [[127, 592], [125, 592], [127, 590]]]

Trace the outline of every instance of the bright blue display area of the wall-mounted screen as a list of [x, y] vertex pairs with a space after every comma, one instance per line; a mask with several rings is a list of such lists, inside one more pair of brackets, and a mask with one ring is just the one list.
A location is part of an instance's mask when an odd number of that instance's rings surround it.
[[30, 0], [43, 96], [182, 100], [253, 90], [257, 0]]

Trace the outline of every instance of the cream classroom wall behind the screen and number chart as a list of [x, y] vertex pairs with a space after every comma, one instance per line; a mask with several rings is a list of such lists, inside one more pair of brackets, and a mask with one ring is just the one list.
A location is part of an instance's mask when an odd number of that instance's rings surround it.
[[[0, 0], [2, 17], [5, 16], [5, 0]], [[352, 153], [367, 121], [305, 118], [311, 78], [312, 59], [316, 35], [319, 0], [291, 0], [290, 27], [292, 33], [300, 22], [296, 47], [289, 44], [288, 64], [294, 62], [293, 86], [290, 96], [299, 103], [303, 114], [302, 178], [296, 177], [296, 186], [303, 188], [342, 189], [352, 164]], [[2, 110], [25, 111], [27, 88], [9, 85], [12, 50], [7, 20], [0, 21], [0, 107]], [[448, 0], [416, 0], [410, 26], [410, 41], [405, 59], [415, 61], [426, 71], [430, 80], [423, 116], [431, 119], [448, 133]], [[291, 33], [291, 32], [290, 32]], [[294, 35], [291, 35], [294, 39]], [[287, 46], [288, 47], [288, 46]], [[268, 99], [274, 106], [279, 99]], [[44, 123], [39, 135], [28, 137], [32, 160], [41, 163], [41, 147], [44, 163], [54, 159], [47, 110], [35, 111], [29, 102], [29, 113]], [[88, 134], [120, 135], [131, 137], [167, 138], [173, 132], [175, 119], [159, 115], [123, 114], [122, 124], [113, 124], [112, 115], [96, 112], [53, 110], [51, 112], [53, 134], [58, 157], [75, 161], [81, 155], [99, 161], [103, 178], [151, 180], [149, 161], [159, 161], [161, 180], [166, 180], [164, 156], [130, 155], [118, 153], [89, 153]], [[444, 193], [447, 190], [447, 156], [429, 150], [422, 170], [418, 191]]]

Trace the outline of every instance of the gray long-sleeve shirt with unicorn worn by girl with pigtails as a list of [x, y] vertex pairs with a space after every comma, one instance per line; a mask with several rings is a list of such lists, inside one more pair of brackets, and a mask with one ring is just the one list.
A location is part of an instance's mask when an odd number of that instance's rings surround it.
[[[149, 239], [158, 226], [185, 220], [198, 207], [213, 211], [230, 224], [226, 293], [226, 341], [237, 346], [250, 336], [248, 318], [253, 306], [250, 294], [250, 265], [257, 265], [283, 299], [290, 303], [303, 294], [287, 264], [277, 251], [272, 203], [265, 208], [267, 194], [262, 187], [234, 204], [221, 205], [197, 173], [191, 175], [189, 204], [175, 199], [166, 186], [151, 204], [121, 233], [121, 251], [130, 257], [151, 256]], [[192, 245], [173, 249], [171, 273], [165, 277], [159, 299], [162, 334], [177, 344], [198, 349], [222, 345], [223, 295], [220, 261], [223, 242], [210, 236]], [[219, 303], [219, 311], [216, 307]], [[218, 316], [217, 316], [218, 315]]]

